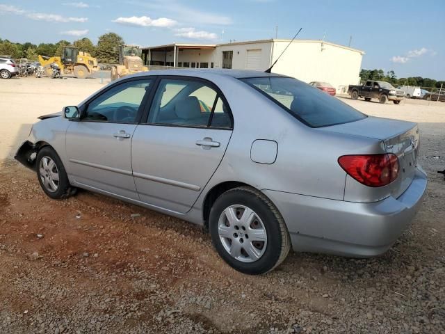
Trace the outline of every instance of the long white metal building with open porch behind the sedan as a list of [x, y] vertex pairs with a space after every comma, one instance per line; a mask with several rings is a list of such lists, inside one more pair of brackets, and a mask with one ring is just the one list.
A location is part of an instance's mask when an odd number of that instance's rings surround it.
[[[172, 67], [267, 70], [290, 40], [254, 40], [219, 45], [172, 44], [143, 49], [145, 64]], [[294, 40], [272, 72], [305, 82], [325, 81], [345, 92], [359, 83], [364, 51], [323, 40]]]

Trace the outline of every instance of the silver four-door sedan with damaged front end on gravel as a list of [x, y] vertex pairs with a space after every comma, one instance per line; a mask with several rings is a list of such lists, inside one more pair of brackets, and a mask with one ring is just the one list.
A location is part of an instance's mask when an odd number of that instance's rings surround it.
[[16, 159], [49, 197], [88, 189], [203, 225], [243, 273], [290, 248], [384, 253], [427, 184], [415, 123], [277, 74], [144, 72], [41, 119]]

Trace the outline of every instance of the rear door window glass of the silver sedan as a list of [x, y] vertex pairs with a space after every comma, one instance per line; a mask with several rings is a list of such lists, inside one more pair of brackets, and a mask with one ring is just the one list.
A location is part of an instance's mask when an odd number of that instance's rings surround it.
[[211, 125], [230, 127], [228, 110], [211, 86], [202, 81], [162, 79], [154, 95], [148, 122], [208, 127], [213, 109]]

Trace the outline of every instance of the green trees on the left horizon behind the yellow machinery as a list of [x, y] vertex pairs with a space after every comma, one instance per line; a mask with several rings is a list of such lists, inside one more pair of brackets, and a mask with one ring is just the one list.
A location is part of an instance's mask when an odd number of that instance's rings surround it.
[[15, 59], [28, 58], [31, 61], [37, 61], [38, 55], [41, 56], [61, 56], [63, 47], [77, 47], [79, 51], [88, 52], [97, 58], [99, 63], [118, 63], [119, 62], [119, 45], [124, 44], [124, 39], [117, 33], [105, 33], [99, 36], [97, 45], [94, 45], [89, 38], [81, 38], [73, 43], [67, 40], [59, 40], [53, 43], [40, 43], [35, 45], [31, 42], [16, 43], [0, 38], [0, 55], [12, 56]]

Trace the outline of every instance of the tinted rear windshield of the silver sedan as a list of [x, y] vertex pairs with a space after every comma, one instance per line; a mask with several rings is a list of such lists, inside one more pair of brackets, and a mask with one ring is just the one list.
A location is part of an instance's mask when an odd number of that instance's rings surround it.
[[241, 80], [259, 90], [309, 127], [327, 127], [367, 117], [337, 97], [332, 97], [297, 79], [262, 77]]

